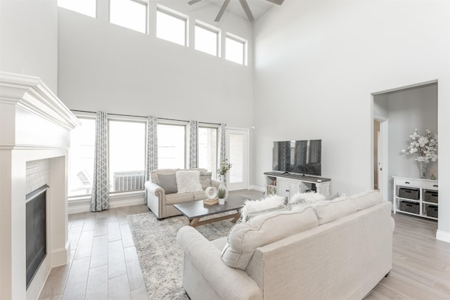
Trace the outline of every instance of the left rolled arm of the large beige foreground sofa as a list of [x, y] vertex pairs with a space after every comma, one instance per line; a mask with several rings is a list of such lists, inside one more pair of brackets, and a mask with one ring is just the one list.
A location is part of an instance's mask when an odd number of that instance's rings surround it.
[[[244, 270], [226, 266], [220, 250], [195, 228], [182, 227], [176, 234], [176, 241], [184, 251], [184, 259], [198, 270], [198, 280], [206, 281], [204, 285], [214, 289], [222, 299], [262, 299], [262, 291], [255, 280]], [[195, 272], [189, 274], [192, 276]], [[185, 289], [186, 292], [195, 291], [186, 286]], [[190, 296], [195, 299], [195, 295]]]

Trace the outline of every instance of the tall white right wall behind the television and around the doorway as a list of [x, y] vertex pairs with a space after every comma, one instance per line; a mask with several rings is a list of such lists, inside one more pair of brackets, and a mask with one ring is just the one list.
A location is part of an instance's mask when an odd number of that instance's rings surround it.
[[[331, 190], [372, 188], [372, 93], [438, 80], [439, 131], [450, 126], [448, 1], [285, 1], [255, 23], [254, 180], [271, 143], [321, 138]], [[440, 136], [439, 181], [450, 180]], [[450, 187], [439, 186], [439, 230], [450, 241]]]

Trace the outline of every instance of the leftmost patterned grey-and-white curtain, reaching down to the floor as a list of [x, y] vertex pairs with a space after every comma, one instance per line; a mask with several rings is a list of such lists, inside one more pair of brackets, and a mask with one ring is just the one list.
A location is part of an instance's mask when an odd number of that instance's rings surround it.
[[106, 119], [106, 112], [97, 112], [91, 211], [102, 211], [109, 207], [108, 121]]

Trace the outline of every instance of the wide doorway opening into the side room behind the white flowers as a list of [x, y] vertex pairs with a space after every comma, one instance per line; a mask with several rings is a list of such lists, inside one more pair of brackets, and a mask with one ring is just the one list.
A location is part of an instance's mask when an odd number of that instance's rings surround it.
[[[383, 199], [392, 201], [392, 176], [420, 177], [415, 155], [404, 152], [411, 140], [409, 136], [415, 129], [437, 133], [437, 82], [404, 86], [372, 96], [371, 185], [380, 190]], [[437, 163], [432, 167], [437, 169]]]

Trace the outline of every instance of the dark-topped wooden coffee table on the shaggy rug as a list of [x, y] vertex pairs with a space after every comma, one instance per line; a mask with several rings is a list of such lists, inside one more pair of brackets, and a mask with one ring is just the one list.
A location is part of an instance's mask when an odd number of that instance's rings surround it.
[[[232, 219], [231, 222], [236, 222], [240, 218], [239, 209], [241, 209], [245, 203], [247, 198], [238, 196], [238, 195], [230, 195], [228, 199], [225, 201], [224, 205], [214, 204], [208, 205], [203, 204], [203, 200], [186, 202], [174, 204], [174, 207], [181, 211], [182, 214], [188, 217], [189, 225], [192, 227], [197, 227], [200, 225], [205, 225], [221, 220]], [[221, 214], [226, 211], [236, 210], [235, 214], [227, 214], [226, 216], [217, 216], [211, 219], [201, 220], [205, 216], [212, 216], [214, 214]]]

